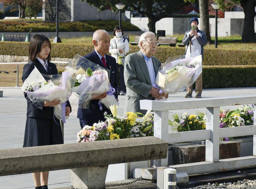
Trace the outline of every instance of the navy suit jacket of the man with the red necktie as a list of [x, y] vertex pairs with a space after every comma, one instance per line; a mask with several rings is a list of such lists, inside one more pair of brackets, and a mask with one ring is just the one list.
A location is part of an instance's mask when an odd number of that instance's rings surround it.
[[[117, 92], [117, 85], [118, 85], [118, 66], [116, 64], [115, 58], [111, 57], [110, 55], [106, 54], [106, 60], [107, 60], [107, 67], [105, 67], [101, 60], [99, 59], [97, 53], [95, 50], [91, 52], [90, 54], [87, 54], [84, 56], [87, 60], [92, 61], [95, 64], [98, 64], [101, 67], [104, 67], [106, 69], [110, 70], [110, 84], [113, 88], [115, 88], [116, 93], [115, 97], [116, 99], [118, 98], [118, 92]], [[83, 66], [81, 63], [77, 63], [77, 66]], [[78, 108], [77, 111], [77, 118], [83, 119], [83, 120], [88, 120], [88, 121], [93, 121], [93, 122], [98, 122], [99, 120], [105, 121], [104, 120], [104, 112], [106, 111], [108, 114], [111, 114], [110, 110], [102, 104], [103, 108], [102, 110], [99, 110], [99, 100], [91, 100], [89, 109], [82, 109]]]

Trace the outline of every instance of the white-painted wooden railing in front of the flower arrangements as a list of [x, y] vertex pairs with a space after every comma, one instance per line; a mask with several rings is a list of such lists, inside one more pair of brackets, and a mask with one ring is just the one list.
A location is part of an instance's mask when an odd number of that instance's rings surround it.
[[[220, 129], [220, 107], [254, 104], [254, 125]], [[256, 95], [221, 98], [185, 99], [174, 101], [141, 100], [140, 108], [154, 110], [154, 136], [169, 143], [206, 140], [206, 162], [219, 161], [220, 138], [253, 135], [253, 156], [256, 156]], [[192, 108], [206, 108], [206, 129], [168, 133], [168, 111]], [[154, 165], [167, 166], [168, 157], [154, 160]]]

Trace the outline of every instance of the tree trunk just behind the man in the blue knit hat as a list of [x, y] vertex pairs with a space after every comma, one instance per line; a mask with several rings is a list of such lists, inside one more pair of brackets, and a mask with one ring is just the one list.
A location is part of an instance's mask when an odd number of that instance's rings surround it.
[[210, 24], [209, 24], [209, 10], [208, 10], [209, 0], [199, 0], [199, 11], [200, 11], [200, 30], [203, 30], [206, 34], [207, 42], [212, 43], [210, 34]]

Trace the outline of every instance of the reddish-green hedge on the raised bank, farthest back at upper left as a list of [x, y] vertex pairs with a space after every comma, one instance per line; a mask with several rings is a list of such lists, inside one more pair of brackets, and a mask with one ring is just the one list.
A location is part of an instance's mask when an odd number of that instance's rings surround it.
[[[0, 15], [1, 16], [1, 15]], [[59, 31], [95, 31], [97, 29], [105, 29], [113, 31], [118, 26], [118, 20], [95, 20], [82, 22], [59, 22]], [[141, 31], [137, 26], [122, 22], [124, 31]], [[33, 32], [54, 32], [56, 31], [56, 23], [53, 22], [0, 22], [0, 32], [29, 32], [33, 28]]]

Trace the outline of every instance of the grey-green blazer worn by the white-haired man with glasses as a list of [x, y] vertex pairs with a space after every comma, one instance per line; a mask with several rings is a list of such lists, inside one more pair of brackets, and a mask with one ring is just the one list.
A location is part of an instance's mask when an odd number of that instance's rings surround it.
[[[152, 62], [157, 76], [161, 61], [152, 56]], [[126, 56], [124, 60], [124, 82], [126, 85], [124, 114], [126, 112], [140, 112], [145, 115], [147, 110], [140, 109], [140, 100], [152, 100], [153, 96], [150, 95], [151, 80], [141, 51]]]

